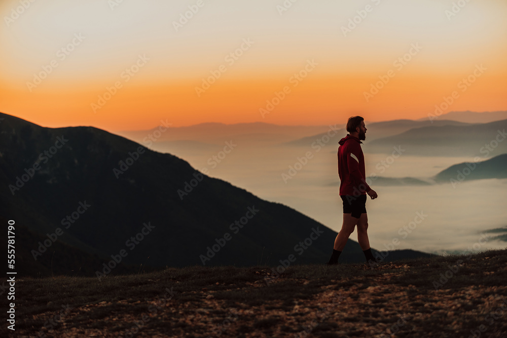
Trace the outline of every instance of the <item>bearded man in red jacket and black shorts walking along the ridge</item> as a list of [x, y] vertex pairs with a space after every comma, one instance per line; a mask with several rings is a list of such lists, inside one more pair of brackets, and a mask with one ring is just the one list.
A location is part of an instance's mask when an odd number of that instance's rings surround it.
[[367, 262], [373, 260], [368, 239], [368, 216], [366, 214], [366, 194], [377, 198], [375, 190], [366, 183], [365, 156], [361, 140], [366, 140], [365, 119], [352, 116], [347, 121], [347, 134], [338, 147], [338, 175], [340, 176], [340, 197], [343, 201], [343, 225], [335, 239], [333, 254], [329, 265], [338, 264], [338, 257], [357, 225], [357, 241], [365, 253]]

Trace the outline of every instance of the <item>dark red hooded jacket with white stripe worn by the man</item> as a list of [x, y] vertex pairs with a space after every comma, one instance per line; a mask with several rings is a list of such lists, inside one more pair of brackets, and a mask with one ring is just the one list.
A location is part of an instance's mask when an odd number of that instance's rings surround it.
[[366, 195], [372, 188], [366, 183], [365, 156], [357, 137], [347, 134], [338, 142], [340, 195]]

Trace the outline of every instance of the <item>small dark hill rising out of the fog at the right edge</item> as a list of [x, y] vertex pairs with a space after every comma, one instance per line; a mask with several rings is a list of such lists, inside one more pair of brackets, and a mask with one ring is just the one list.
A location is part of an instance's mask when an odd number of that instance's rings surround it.
[[451, 180], [462, 182], [504, 178], [507, 178], [507, 154], [501, 154], [481, 162], [454, 164], [438, 173], [434, 180], [437, 182], [449, 182]]

